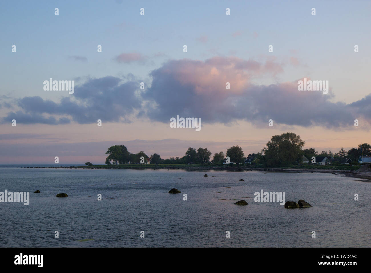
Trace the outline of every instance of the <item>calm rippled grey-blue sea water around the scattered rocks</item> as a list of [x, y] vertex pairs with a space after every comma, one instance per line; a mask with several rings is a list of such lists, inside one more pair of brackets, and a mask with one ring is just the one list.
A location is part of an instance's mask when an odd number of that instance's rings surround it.
[[[371, 247], [371, 183], [357, 180], [320, 173], [0, 168], [0, 191], [30, 192], [29, 205], [0, 203], [0, 246]], [[182, 193], [168, 194], [171, 188]], [[261, 189], [313, 207], [254, 202]], [[61, 192], [69, 197], [55, 197]], [[249, 205], [233, 204], [240, 199]]]

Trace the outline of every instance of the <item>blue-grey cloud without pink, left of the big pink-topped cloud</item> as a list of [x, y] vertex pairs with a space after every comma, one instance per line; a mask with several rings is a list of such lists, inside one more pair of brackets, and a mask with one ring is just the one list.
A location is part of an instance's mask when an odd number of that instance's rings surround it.
[[[131, 78], [131, 75], [128, 75]], [[141, 99], [135, 93], [138, 81], [122, 82], [116, 77], [89, 79], [75, 87], [75, 93], [63, 97], [59, 103], [39, 96], [17, 99], [22, 111], [10, 112], [1, 122], [16, 119], [17, 123], [66, 124], [102, 121], [130, 122], [128, 117], [141, 108]], [[57, 91], [58, 92], [58, 91]], [[55, 116], [63, 116], [56, 118]]]

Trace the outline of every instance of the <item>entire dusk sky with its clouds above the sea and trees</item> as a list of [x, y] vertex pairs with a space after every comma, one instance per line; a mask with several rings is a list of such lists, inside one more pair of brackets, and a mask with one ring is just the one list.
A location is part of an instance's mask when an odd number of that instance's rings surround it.
[[[1, 2], [0, 164], [99, 164], [112, 145], [247, 156], [288, 131], [319, 152], [370, 143], [370, 12], [371, 1]], [[73, 94], [45, 90], [50, 78], [74, 81]], [[304, 78], [328, 94], [299, 91]], [[171, 128], [177, 115], [201, 130]]]

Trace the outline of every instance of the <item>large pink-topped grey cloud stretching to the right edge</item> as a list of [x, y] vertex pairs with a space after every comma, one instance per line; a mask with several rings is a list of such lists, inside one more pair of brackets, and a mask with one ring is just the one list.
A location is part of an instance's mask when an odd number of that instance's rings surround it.
[[282, 71], [275, 59], [265, 64], [235, 57], [170, 61], [151, 73], [152, 84], [145, 96], [157, 106], [148, 108], [147, 115], [161, 122], [180, 115], [201, 117], [206, 123], [266, 124], [273, 119], [279, 124], [328, 128], [353, 125], [359, 116], [371, 117], [370, 95], [352, 104], [332, 103], [331, 90], [329, 94], [298, 91], [297, 80], [268, 86], [252, 82], [259, 75]]

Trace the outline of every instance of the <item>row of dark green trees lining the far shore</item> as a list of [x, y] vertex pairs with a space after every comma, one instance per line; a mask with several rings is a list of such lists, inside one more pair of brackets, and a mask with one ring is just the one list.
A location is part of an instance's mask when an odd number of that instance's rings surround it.
[[[361, 147], [363, 155], [371, 155], [371, 145], [362, 143], [358, 148], [352, 148], [348, 151], [342, 147], [337, 153], [333, 154], [330, 150], [317, 152], [314, 148], [303, 149], [305, 142], [295, 133], [283, 133], [272, 136], [270, 141], [259, 153], [250, 153], [247, 157], [239, 146], [232, 146], [227, 149], [226, 153], [215, 153], [211, 159], [211, 152], [207, 148], [192, 148], [189, 147], [183, 157], [170, 157], [161, 159], [161, 156], [154, 153], [147, 156], [143, 151], [139, 153], [130, 153], [124, 145], [115, 145], [108, 148], [106, 155], [106, 164], [129, 164], [141, 163], [141, 157], [147, 161], [150, 159], [151, 164], [223, 164], [226, 163], [226, 157], [229, 157], [230, 162], [239, 165], [244, 163], [247, 158], [251, 158], [253, 164], [267, 167], [286, 167], [302, 163], [302, 157], [305, 156], [311, 162], [312, 156], [326, 156], [334, 159], [350, 158], [357, 162], [361, 155]], [[90, 162], [89, 162], [90, 163]]]

